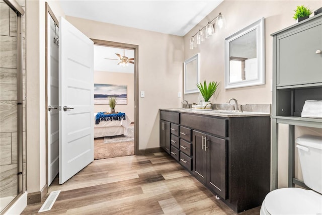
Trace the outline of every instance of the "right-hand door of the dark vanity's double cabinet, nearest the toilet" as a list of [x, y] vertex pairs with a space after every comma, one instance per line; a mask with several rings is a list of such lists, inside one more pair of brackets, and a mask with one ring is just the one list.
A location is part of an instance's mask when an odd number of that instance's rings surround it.
[[207, 135], [207, 186], [226, 199], [226, 140]]

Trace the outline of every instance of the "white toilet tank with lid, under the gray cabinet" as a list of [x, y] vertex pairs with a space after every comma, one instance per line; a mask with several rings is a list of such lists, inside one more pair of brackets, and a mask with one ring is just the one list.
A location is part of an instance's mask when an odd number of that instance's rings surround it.
[[295, 142], [305, 185], [322, 194], [322, 137], [303, 135]]

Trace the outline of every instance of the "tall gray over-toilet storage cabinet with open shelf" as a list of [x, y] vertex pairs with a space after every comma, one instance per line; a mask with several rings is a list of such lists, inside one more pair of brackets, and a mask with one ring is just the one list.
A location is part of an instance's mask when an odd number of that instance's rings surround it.
[[322, 128], [322, 119], [301, 117], [306, 100], [322, 100], [322, 14], [273, 33], [272, 179], [277, 189], [278, 124], [289, 125], [288, 186], [294, 178], [294, 126]]

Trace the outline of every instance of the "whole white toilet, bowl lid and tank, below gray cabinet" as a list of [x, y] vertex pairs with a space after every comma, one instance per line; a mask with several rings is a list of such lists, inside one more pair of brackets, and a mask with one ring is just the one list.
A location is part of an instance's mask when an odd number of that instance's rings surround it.
[[268, 193], [261, 215], [322, 214], [322, 137], [304, 135], [296, 138], [303, 180], [312, 190], [281, 188]]

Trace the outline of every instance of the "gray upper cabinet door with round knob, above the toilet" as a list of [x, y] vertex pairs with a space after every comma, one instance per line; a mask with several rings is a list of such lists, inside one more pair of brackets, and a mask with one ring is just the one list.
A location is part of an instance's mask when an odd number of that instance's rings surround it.
[[322, 82], [322, 24], [304, 27], [277, 40], [277, 86]]

